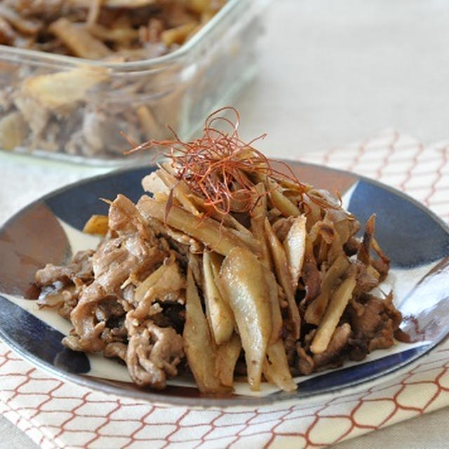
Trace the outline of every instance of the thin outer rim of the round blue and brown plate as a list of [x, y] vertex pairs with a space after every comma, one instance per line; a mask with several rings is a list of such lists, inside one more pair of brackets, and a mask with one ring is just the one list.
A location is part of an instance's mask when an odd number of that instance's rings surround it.
[[[341, 170], [340, 168], [333, 168], [328, 167], [323, 164], [319, 163], [309, 163], [309, 162], [303, 162], [301, 160], [295, 160], [295, 159], [282, 159], [282, 160], [273, 160], [273, 161], [282, 161], [284, 163], [293, 163], [300, 166], [305, 167], [311, 167], [311, 168], [317, 168], [321, 170], [326, 170], [333, 173], [340, 173], [344, 175], [349, 175], [351, 177], [354, 177], [354, 184], [351, 185], [353, 187], [357, 182], [359, 181], [365, 181], [368, 182], [370, 185], [375, 185], [377, 187], [380, 187], [381, 189], [387, 190], [387, 192], [390, 192], [392, 194], [395, 194], [396, 196], [400, 197], [401, 199], [408, 201], [408, 203], [412, 203], [414, 206], [422, 210], [424, 213], [426, 213], [429, 217], [431, 217], [434, 222], [436, 222], [437, 225], [439, 225], [446, 234], [449, 235], [449, 225], [441, 218], [436, 215], [432, 210], [430, 210], [427, 206], [425, 206], [423, 203], [420, 203], [420, 201], [417, 201], [410, 195], [401, 192], [400, 190], [396, 189], [395, 187], [391, 187], [389, 185], [384, 184], [383, 182], [380, 182], [378, 180], [374, 180], [370, 177], [359, 175], [358, 173], [352, 172], [350, 170]], [[156, 169], [156, 162], [149, 163], [149, 165], [146, 167], [148, 170], [148, 173], [152, 173]], [[117, 168], [115, 170], [110, 170], [107, 173], [102, 173], [100, 175], [93, 175], [90, 177], [85, 177], [81, 180], [77, 180], [75, 182], [71, 182], [67, 185], [64, 185], [62, 187], [59, 187], [58, 189], [54, 189], [51, 192], [48, 192], [47, 194], [40, 196], [39, 198], [35, 199], [31, 203], [28, 203], [26, 206], [20, 208], [17, 212], [15, 212], [11, 217], [8, 218], [0, 227], [0, 234], [5, 231], [8, 227], [10, 227], [15, 220], [18, 220], [20, 218], [20, 215], [25, 213], [30, 208], [33, 208], [36, 205], [39, 205], [41, 203], [45, 203], [46, 199], [51, 198], [53, 196], [56, 196], [58, 194], [61, 194], [62, 192], [67, 192], [70, 189], [74, 189], [75, 187], [79, 187], [80, 185], [86, 185], [90, 182], [93, 182], [95, 180], [103, 180], [107, 177], [114, 177], [116, 175], [121, 175], [122, 173], [131, 173], [133, 171], [140, 171], [144, 170], [145, 167], [142, 166], [130, 166], [126, 168]], [[320, 188], [319, 185], [315, 185], [314, 187]], [[144, 194], [145, 191], [142, 189], [142, 194]], [[0, 293], [1, 295], [1, 293]], [[307, 401], [309, 403], [316, 403], [317, 401], [325, 400], [326, 397], [334, 396], [338, 392], [344, 392], [348, 389], [351, 389], [351, 392], [354, 392], [355, 390], [363, 389], [363, 387], [367, 387], [368, 385], [375, 385], [377, 383], [381, 382], [387, 382], [389, 378], [397, 377], [398, 375], [401, 375], [401, 372], [408, 368], [411, 364], [413, 364], [418, 359], [422, 358], [423, 356], [426, 356], [429, 354], [430, 351], [433, 351], [438, 347], [438, 345], [445, 340], [449, 336], [449, 333], [446, 333], [445, 335], [442, 335], [441, 337], [438, 337], [438, 339], [430, 342], [426, 349], [422, 352], [416, 354], [415, 356], [411, 356], [408, 360], [403, 361], [402, 363], [398, 363], [395, 366], [392, 366], [390, 368], [385, 369], [380, 374], [372, 374], [365, 377], [363, 380], [359, 381], [352, 381], [348, 382], [347, 384], [337, 385], [335, 387], [330, 387], [327, 389], [327, 391], [319, 392], [319, 393], [309, 393], [304, 394], [303, 396], [295, 396], [295, 392], [286, 394], [285, 397], [281, 396], [231, 396], [230, 398], [225, 397], [214, 397], [214, 396], [199, 396], [199, 397], [185, 397], [185, 396], [164, 396], [163, 393], [154, 393], [152, 390], [138, 390], [138, 389], [123, 389], [121, 387], [115, 386], [113, 384], [109, 384], [108, 380], [97, 380], [95, 377], [89, 377], [88, 375], [78, 375], [75, 373], [68, 373], [67, 371], [60, 370], [53, 366], [51, 363], [48, 363], [46, 361], [43, 361], [41, 358], [35, 356], [33, 353], [27, 351], [19, 344], [16, 344], [14, 340], [9, 337], [8, 333], [6, 333], [3, 329], [3, 326], [1, 326], [0, 323], [0, 338], [1, 340], [6, 344], [7, 347], [15, 351], [16, 354], [18, 354], [20, 357], [24, 358], [25, 361], [28, 361], [29, 363], [32, 363], [33, 366], [36, 366], [37, 368], [41, 368], [42, 370], [46, 371], [46, 373], [50, 373], [51, 375], [54, 375], [60, 380], [65, 380], [71, 384], [76, 384], [81, 387], [85, 387], [88, 389], [91, 389], [93, 391], [101, 391], [105, 394], [110, 394], [114, 396], [119, 396], [123, 398], [132, 398], [138, 401], [144, 401], [148, 403], [152, 403], [153, 405], [163, 405], [163, 406], [187, 406], [189, 408], [257, 408], [261, 406], [269, 406], [272, 404], [278, 404], [278, 403], [288, 403], [292, 401], [293, 403], [302, 403], [304, 401]]]

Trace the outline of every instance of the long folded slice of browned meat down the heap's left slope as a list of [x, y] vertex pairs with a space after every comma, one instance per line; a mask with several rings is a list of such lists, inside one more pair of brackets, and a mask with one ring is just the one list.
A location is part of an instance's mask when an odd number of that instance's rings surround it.
[[[126, 286], [154, 271], [168, 257], [168, 252], [160, 247], [152, 229], [142, 224], [138, 210], [126, 196], [119, 195], [111, 203], [108, 223], [112, 233], [92, 256], [95, 280], [82, 290], [70, 314], [74, 325], [72, 340], [77, 337], [77, 345], [83, 351], [101, 351], [105, 347], [102, 335], [108, 328], [110, 316], [104, 313], [103, 300], [116, 298], [114, 307], [121, 307], [121, 314], [125, 314], [129, 309], [123, 300]], [[129, 290], [126, 295], [132, 296]]]

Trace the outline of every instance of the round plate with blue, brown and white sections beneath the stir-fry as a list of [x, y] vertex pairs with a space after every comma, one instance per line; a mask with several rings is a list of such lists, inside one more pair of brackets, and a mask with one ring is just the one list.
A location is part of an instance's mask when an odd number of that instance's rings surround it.
[[99, 198], [119, 192], [133, 201], [142, 194], [140, 180], [152, 168], [128, 169], [70, 185], [32, 203], [0, 229], [0, 335], [32, 363], [65, 380], [120, 396], [189, 406], [261, 406], [285, 400], [315, 398], [380, 378], [422, 356], [449, 333], [449, 229], [408, 196], [352, 173], [290, 163], [298, 178], [342, 194], [344, 206], [365, 222], [377, 214], [376, 238], [391, 258], [387, 286], [401, 310], [403, 330], [412, 343], [373, 351], [363, 363], [347, 363], [311, 377], [297, 377], [299, 389], [285, 393], [271, 387], [250, 396], [237, 386], [229, 398], [201, 397], [191, 379], [171, 382], [161, 392], [138, 389], [126, 368], [100, 356], [62, 346], [70, 329], [55, 311], [39, 310], [25, 300], [34, 273], [48, 262], [65, 264], [95, 239], [81, 233], [93, 213], [107, 213]]

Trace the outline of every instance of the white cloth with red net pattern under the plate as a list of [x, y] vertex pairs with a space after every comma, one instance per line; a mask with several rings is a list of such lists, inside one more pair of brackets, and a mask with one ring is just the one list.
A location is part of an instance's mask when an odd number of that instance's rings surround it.
[[[448, 151], [449, 142], [424, 148], [387, 130], [300, 159], [373, 177], [448, 221]], [[1, 413], [42, 448], [317, 448], [449, 406], [449, 340], [381, 382], [256, 410], [192, 410], [108, 396], [47, 375], [2, 343], [0, 387]]]

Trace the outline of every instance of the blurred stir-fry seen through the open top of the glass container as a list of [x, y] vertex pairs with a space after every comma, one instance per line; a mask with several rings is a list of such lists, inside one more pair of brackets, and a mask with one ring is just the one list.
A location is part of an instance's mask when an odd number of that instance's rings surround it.
[[225, 0], [4, 0], [0, 43], [95, 60], [142, 60], [193, 36]]

